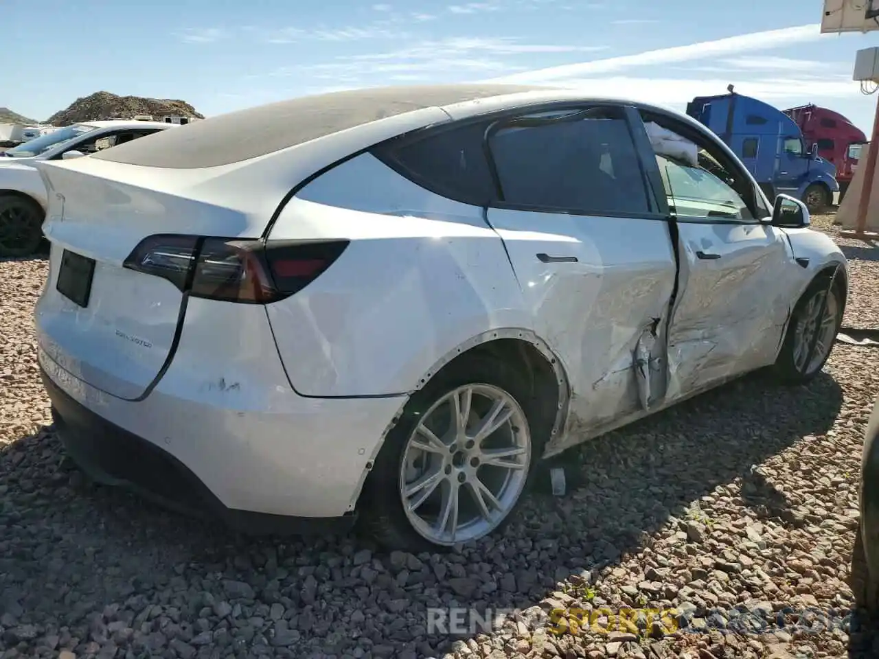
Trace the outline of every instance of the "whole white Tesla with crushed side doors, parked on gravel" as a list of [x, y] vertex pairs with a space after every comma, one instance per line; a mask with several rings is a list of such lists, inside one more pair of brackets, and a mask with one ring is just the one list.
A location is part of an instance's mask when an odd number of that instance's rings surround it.
[[842, 317], [837, 246], [678, 112], [450, 85], [186, 131], [38, 164], [40, 366], [84, 470], [245, 532], [476, 540], [541, 457], [809, 380]]

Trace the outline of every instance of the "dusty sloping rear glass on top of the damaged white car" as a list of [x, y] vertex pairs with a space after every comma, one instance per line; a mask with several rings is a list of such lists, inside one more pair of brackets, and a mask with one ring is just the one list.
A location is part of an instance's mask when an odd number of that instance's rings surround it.
[[216, 167], [404, 112], [534, 89], [473, 84], [338, 91], [221, 114], [91, 157], [148, 167]]

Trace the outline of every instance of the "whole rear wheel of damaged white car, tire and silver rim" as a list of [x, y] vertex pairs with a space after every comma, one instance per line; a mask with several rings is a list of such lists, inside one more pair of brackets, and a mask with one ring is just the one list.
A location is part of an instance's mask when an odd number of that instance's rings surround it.
[[539, 457], [532, 400], [526, 380], [494, 359], [439, 373], [412, 396], [376, 460], [361, 506], [368, 531], [412, 552], [497, 531]]

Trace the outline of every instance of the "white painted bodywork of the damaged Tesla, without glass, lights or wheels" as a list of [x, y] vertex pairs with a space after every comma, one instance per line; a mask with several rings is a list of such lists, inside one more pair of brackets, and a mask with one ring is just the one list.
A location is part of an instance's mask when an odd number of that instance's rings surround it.
[[[398, 134], [580, 98], [539, 91], [425, 108], [219, 167], [40, 163], [52, 243], [36, 308], [40, 364], [78, 402], [183, 461], [230, 508], [305, 517], [354, 508], [408, 396], [476, 344], [519, 337], [552, 362], [560, 410], [547, 455], [771, 364], [815, 274], [846, 269], [832, 241], [808, 229], [682, 223], [676, 266], [664, 222], [553, 214], [537, 231], [534, 214], [483, 216], [368, 153], [286, 199]], [[190, 300], [170, 368], [135, 400], [171, 350], [183, 296], [122, 270], [123, 260], [157, 233], [258, 237], [278, 208], [270, 241], [350, 246], [286, 301]], [[54, 290], [65, 248], [98, 260], [98, 304], [79, 308]], [[729, 259], [718, 267], [694, 250]], [[536, 252], [576, 255], [578, 266], [534, 262]], [[759, 293], [737, 299], [740, 284]], [[633, 384], [639, 356], [650, 367]]]

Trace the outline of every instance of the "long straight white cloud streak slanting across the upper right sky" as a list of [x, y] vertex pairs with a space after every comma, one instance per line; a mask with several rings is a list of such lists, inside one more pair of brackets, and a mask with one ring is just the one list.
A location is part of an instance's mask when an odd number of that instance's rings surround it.
[[578, 76], [615, 73], [633, 67], [643, 68], [655, 64], [671, 64], [674, 62], [690, 62], [703, 60], [718, 55], [749, 53], [756, 50], [779, 48], [803, 41], [814, 41], [832, 35], [822, 35], [819, 25], [798, 25], [785, 27], [781, 30], [741, 34], [737, 37], [702, 41], [689, 46], [678, 46], [649, 50], [643, 53], [610, 57], [592, 62], [565, 64], [563, 66], [537, 69], [513, 76], [504, 76], [485, 82], [491, 83], [541, 83], [570, 79]]

